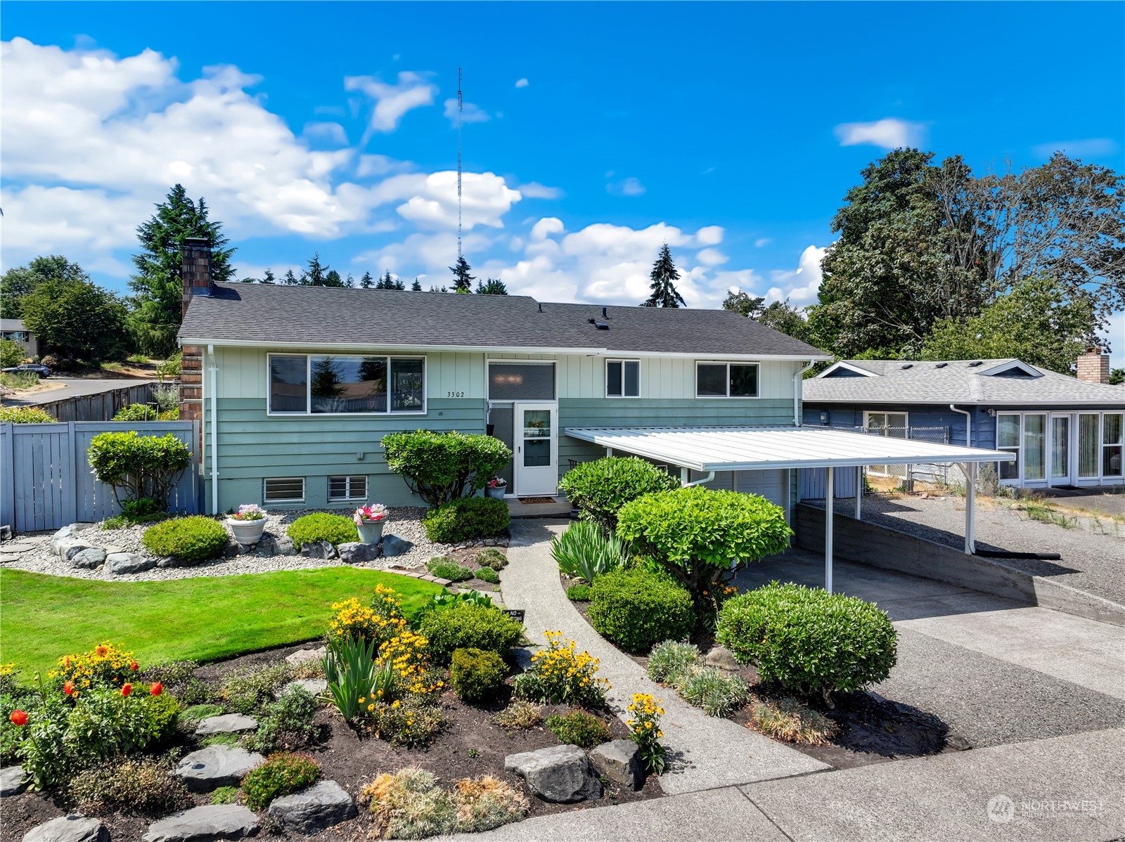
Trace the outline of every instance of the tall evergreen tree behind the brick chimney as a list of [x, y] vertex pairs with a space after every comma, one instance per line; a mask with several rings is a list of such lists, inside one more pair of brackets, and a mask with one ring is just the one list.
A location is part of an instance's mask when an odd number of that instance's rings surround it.
[[187, 237], [202, 237], [212, 246], [212, 272], [215, 281], [234, 278], [231, 255], [224, 248], [227, 238], [223, 224], [208, 219], [207, 203], [200, 197], [192, 201], [181, 184], [156, 206], [148, 221], [137, 227], [142, 253], [133, 255], [137, 273], [129, 281], [136, 308], [129, 316], [129, 327], [143, 353], [169, 356], [176, 352], [176, 334], [180, 329], [183, 308], [183, 264], [181, 247]]

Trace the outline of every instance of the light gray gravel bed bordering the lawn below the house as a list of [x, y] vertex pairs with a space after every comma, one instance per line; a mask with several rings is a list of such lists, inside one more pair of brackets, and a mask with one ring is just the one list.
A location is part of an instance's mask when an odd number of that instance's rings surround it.
[[[296, 509], [287, 511], [271, 511], [267, 515], [266, 532], [273, 535], [285, 535], [286, 527], [302, 515], [322, 509]], [[339, 510], [334, 514], [340, 514]], [[376, 561], [351, 567], [369, 568], [372, 570], [385, 570], [389, 567], [403, 567], [416, 569], [424, 567], [434, 555], [443, 555], [451, 550], [462, 546], [461, 544], [435, 544], [425, 536], [422, 528], [422, 516], [424, 508], [403, 507], [390, 509], [390, 518], [384, 527], [384, 534], [394, 534], [414, 544], [408, 552], [389, 559], [378, 559]], [[114, 547], [115, 552], [130, 552], [147, 555], [141, 537], [145, 526], [132, 526], [125, 529], [101, 529], [99, 525], [93, 525], [81, 533], [81, 537], [92, 544], [104, 547]], [[255, 553], [236, 555], [233, 559], [215, 559], [194, 567], [183, 568], [155, 568], [143, 573], [129, 576], [110, 577], [102, 570], [82, 570], [72, 567], [69, 562], [58, 559], [51, 552], [52, 533], [40, 533], [38, 535], [20, 535], [16, 541], [0, 544], [0, 554], [4, 558], [15, 556], [15, 561], [6, 561], [3, 567], [14, 570], [27, 570], [34, 573], [48, 573], [51, 576], [70, 576], [79, 579], [112, 579], [124, 581], [161, 581], [168, 579], [190, 579], [201, 576], [232, 576], [235, 573], [266, 573], [274, 570], [307, 570], [312, 568], [344, 567], [339, 559], [307, 559], [303, 555], [270, 555], [261, 556]], [[497, 542], [493, 542], [497, 543]], [[506, 542], [498, 542], [506, 543]], [[10, 555], [7, 547], [30, 545], [29, 550], [15, 552]]]

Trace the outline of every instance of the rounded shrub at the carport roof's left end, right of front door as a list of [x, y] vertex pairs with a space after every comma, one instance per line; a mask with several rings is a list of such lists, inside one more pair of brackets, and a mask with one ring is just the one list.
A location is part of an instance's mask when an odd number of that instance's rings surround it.
[[610, 456], [582, 462], [562, 474], [559, 490], [606, 532], [618, 526], [618, 511], [630, 500], [678, 488], [680, 480], [639, 456]]

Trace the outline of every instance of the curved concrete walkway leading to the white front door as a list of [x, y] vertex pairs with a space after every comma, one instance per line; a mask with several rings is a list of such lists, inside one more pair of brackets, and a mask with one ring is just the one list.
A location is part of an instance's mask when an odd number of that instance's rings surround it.
[[550, 554], [551, 535], [566, 525], [550, 520], [512, 524], [508, 565], [502, 573], [504, 603], [526, 612], [526, 634], [536, 643], [546, 643], [544, 630], [561, 632], [577, 641], [579, 650], [600, 659], [598, 676], [612, 685], [610, 699], [622, 718], [634, 692], [662, 699], [664, 743], [673, 761], [672, 771], [660, 778], [665, 793], [680, 795], [830, 768], [729, 719], [708, 716], [675, 690], [649, 681], [639, 664], [602, 640], [566, 598]]

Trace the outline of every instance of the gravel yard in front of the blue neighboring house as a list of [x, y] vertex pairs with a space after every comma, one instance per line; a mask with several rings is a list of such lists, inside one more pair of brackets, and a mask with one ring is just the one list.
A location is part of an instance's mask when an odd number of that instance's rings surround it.
[[[1012, 508], [1012, 500], [976, 500], [976, 546], [982, 550], [1060, 553], [1061, 561], [997, 559], [997, 563], [1032, 576], [1050, 577], [1102, 599], [1125, 605], [1125, 526], [1101, 519], [1079, 518], [1071, 527], [1030, 519]], [[821, 504], [822, 505], [822, 504]], [[855, 504], [838, 500], [836, 513], [850, 517]], [[899, 532], [946, 544], [965, 545], [963, 497], [867, 495], [863, 519]]]

